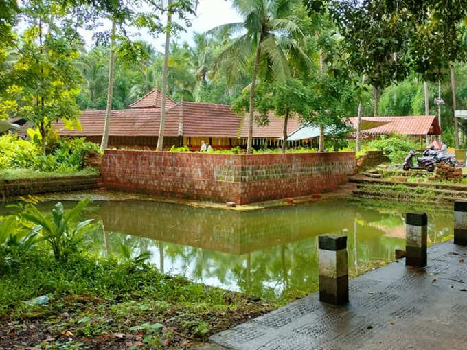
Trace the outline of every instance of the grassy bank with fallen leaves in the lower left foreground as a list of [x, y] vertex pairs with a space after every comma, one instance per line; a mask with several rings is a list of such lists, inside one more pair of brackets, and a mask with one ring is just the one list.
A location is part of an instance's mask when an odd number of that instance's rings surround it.
[[[28, 303], [42, 295], [50, 301]], [[0, 272], [0, 349], [187, 347], [275, 306], [151, 264], [85, 253], [59, 263], [38, 248]]]

